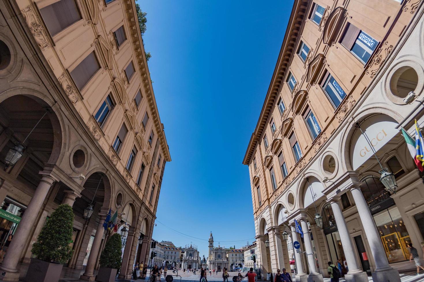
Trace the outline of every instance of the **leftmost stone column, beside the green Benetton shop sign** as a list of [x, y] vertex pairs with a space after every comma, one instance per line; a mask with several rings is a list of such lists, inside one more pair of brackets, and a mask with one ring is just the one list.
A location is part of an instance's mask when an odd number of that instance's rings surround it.
[[35, 190], [31, 201], [28, 204], [25, 213], [15, 231], [13, 240], [9, 245], [9, 249], [14, 250], [8, 252], [0, 269], [1, 272], [6, 272], [6, 275], [0, 276], [0, 279], [7, 281], [18, 281], [19, 273], [17, 272], [17, 264], [20, 256], [25, 248], [31, 230], [36, 223], [36, 218], [43, 205], [43, 202], [49, 192], [50, 187], [53, 185], [55, 179], [50, 175], [43, 175], [37, 189]]

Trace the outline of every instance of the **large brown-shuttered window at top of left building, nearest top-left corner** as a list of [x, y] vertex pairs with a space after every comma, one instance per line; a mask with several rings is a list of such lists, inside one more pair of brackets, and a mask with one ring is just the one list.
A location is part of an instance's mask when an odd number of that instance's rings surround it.
[[40, 9], [51, 36], [81, 19], [75, 0], [60, 0]]

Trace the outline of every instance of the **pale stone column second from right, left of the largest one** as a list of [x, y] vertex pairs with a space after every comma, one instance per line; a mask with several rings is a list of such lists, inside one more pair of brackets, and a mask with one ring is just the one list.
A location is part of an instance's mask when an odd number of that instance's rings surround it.
[[[333, 200], [338, 199], [333, 198]], [[345, 275], [345, 280], [346, 282], [368, 282], [367, 274], [364, 271], [360, 270], [357, 260], [355, 258], [355, 250], [350, 239], [349, 230], [347, 229], [346, 221], [343, 217], [342, 210], [340, 209], [340, 206], [337, 202], [331, 202], [331, 208], [333, 210], [337, 229], [340, 234], [340, 240], [342, 241], [343, 252], [346, 257], [346, 262], [349, 268], [349, 272]]]

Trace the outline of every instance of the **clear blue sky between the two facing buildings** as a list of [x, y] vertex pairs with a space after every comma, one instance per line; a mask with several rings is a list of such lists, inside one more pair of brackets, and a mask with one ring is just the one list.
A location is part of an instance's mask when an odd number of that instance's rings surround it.
[[211, 230], [215, 245], [251, 243], [251, 188], [242, 161], [293, 0], [137, 3], [147, 12], [144, 44], [152, 55], [148, 65], [172, 158], [153, 239], [177, 246], [192, 242], [206, 257]]

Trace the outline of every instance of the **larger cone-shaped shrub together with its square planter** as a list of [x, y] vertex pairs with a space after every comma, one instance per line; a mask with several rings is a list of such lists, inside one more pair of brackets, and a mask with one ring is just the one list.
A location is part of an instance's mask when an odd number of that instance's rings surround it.
[[59, 205], [32, 246], [31, 258], [25, 281], [59, 281], [63, 264], [71, 259], [74, 212], [68, 204]]

